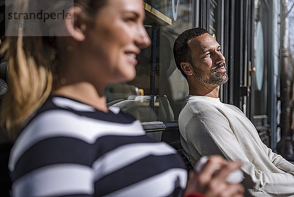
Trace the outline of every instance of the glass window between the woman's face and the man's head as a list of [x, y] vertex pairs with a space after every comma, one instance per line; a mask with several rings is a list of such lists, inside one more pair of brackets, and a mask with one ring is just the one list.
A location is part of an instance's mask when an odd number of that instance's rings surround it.
[[137, 56], [133, 81], [108, 85], [107, 104], [142, 122], [177, 120], [188, 84], [176, 68], [172, 47], [181, 32], [193, 28], [194, 0], [145, 0], [144, 6], [152, 44]]

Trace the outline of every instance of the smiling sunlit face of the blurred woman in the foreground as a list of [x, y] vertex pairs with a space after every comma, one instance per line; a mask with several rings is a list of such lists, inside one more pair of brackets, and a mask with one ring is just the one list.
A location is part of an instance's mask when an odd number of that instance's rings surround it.
[[93, 58], [91, 71], [100, 81], [122, 82], [135, 77], [136, 56], [150, 45], [144, 17], [142, 0], [108, 0], [98, 11], [86, 34], [86, 53]]

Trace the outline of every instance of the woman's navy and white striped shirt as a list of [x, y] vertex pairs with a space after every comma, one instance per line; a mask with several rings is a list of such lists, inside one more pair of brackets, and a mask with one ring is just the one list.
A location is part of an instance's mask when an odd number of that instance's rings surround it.
[[187, 181], [176, 151], [139, 120], [60, 96], [26, 124], [9, 170], [13, 197], [176, 197]]

